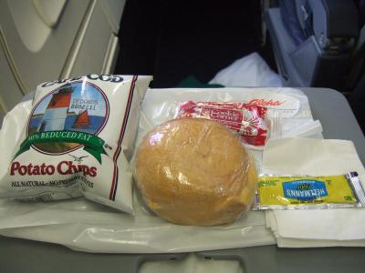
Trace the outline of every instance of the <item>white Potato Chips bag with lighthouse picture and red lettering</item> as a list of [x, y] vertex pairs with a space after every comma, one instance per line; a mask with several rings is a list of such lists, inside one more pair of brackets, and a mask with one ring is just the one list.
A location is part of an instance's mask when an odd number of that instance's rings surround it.
[[0, 199], [84, 196], [131, 213], [129, 160], [150, 81], [90, 74], [37, 86], [12, 157], [0, 155]]

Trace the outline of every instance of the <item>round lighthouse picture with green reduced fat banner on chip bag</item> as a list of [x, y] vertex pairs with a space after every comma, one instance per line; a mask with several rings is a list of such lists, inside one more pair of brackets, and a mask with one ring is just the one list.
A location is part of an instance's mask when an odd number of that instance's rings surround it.
[[85, 150], [105, 153], [98, 134], [109, 112], [108, 99], [98, 86], [85, 81], [59, 86], [34, 106], [21, 152], [34, 147], [41, 153], [61, 155], [83, 145]]

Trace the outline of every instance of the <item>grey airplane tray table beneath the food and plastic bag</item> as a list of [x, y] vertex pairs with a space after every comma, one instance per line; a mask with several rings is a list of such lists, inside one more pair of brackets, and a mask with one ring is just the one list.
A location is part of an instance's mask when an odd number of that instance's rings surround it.
[[[326, 88], [299, 88], [325, 138], [352, 140], [365, 163], [365, 137], [344, 96]], [[183, 259], [188, 254], [91, 254], [42, 242], [0, 237], [0, 272], [138, 272], [145, 261]], [[365, 248], [235, 248], [196, 253], [235, 259], [244, 272], [364, 272]]]

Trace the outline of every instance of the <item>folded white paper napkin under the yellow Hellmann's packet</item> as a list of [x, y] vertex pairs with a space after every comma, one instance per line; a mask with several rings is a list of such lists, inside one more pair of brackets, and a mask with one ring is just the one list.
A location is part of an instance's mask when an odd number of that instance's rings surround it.
[[[274, 175], [339, 175], [365, 169], [351, 141], [313, 138], [271, 139], [262, 172]], [[271, 210], [266, 212], [279, 247], [365, 246], [365, 209]]]

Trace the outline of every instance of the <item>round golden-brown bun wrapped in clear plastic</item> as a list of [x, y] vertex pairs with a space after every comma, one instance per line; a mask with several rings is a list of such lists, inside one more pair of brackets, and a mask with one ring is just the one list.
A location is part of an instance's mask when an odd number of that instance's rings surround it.
[[180, 118], [157, 126], [137, 152], [135, 178], [153, 212], [172, 223], [231, 223], [255, 197], [255, 164], [225, 126]]

